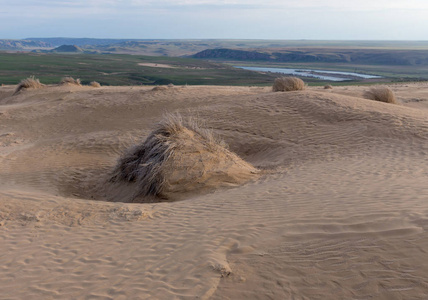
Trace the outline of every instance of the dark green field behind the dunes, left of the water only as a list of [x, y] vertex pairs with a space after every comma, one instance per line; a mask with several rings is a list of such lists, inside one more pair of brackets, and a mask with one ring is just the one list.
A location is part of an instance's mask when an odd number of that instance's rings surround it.
[[[61, 78], [71, 76], [80, 78], [85, 85], [92, 81], [101, 85], [270, 85], [277, 77], [177, 57], [0, 53], [0, 61], [0, 84], [18, 84], [29, 76], [36, 76], [44, 84], [56, 84]], [[167, 66], [154, 67], [155, 64]]]

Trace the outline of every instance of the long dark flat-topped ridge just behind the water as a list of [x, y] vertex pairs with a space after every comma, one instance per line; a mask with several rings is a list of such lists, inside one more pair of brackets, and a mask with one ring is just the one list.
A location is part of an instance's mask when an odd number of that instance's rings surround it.
[[191, 57], [200, 59], [269, 61], [282, 63], [352, 63], [373, 65], [428, 65], [428, 50], [389, 49], [207, 49]]

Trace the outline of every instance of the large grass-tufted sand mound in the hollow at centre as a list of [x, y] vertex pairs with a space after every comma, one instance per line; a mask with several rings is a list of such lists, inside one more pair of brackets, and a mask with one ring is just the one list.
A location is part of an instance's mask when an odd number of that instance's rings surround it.
[[256, 168], [227, 150], [211, 131], [195, 124], [184, 122], [179, 115], [164, 117], [142, 144], [119, 159], [110, 182], [135, 183], [134, 198], [169, 198], [254, 178]]

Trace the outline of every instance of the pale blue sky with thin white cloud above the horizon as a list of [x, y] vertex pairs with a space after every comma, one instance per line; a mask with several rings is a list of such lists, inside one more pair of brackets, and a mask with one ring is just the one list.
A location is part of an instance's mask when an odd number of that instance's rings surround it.
[[0, 39], [428, 40], [428, 0], [0, 0]]

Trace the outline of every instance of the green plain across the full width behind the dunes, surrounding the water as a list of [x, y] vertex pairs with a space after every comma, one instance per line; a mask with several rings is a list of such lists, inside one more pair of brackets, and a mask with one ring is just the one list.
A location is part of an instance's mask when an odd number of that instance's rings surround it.
[[[166, 64], [159, 68], [140, 64]], [[428, 80], [428, 65], [352, 64], [331, 62], [268, 62], [203, 60], [168, 56], [128, 54], [56, 54], [0, 52], [0, 84], [18, 84], [35, 76], [42, 83], [58, 83], [64, 76], [80, 78], [83, 84], [102, 85], [271, 85], [280, 76], [233, 68], [240, 66], [321, 69], [380, 75], [376, 80], [330, 82], [305, 77], [310, 85], [373, 84]]]

